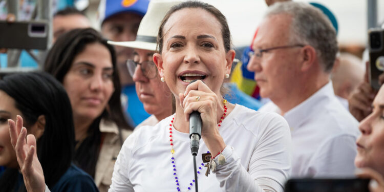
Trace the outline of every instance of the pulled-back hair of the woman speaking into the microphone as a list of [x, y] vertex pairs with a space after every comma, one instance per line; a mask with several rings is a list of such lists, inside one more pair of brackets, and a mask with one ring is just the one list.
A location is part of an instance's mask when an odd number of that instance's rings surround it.
[[[211, 6], [207, 3], [199, 2], [199, 1], [187, 1], [180, 3], [178, 5], [173, 6], [170, 8], [170, 10], [167, 12], [167, 14], [164, 16], [163, 20], [161, 21], [160, 28], [159, 28], [159, 33], [157, 35], [157, 47], [159, 52], [161, 53], [162, 48], [163, 48], [163, 30], [164, 30], [164, 25], [167, 23], [168, 18], [170, 15], [172, 15], [174, 12], [179, 11], [181, 9], [185, 8], [200, 8], [205, 11], [208, 11], [212, 15], [218, 19], [219, 23], [221, 24], [221, 34], [223, 35], [223, 41], [224, 41], [224, 49], [225, 52], [228, 52], [231, 49], [231, 35], [229, 32], [229, 27], [227, 23], [227, 19], [225, 16], [214, 6]], [[195, 15], [196, 16], [196, 15]]]

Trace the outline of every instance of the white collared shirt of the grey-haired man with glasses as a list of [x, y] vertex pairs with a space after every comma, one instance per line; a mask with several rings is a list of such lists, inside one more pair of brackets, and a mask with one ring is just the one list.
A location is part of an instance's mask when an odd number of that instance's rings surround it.
[[[273, 102], [259, 111], [281, 113]], [[293, 143], [292, 177], [354, 175], [358, 122], [335, 97], [331, 81], [284, 118]]]

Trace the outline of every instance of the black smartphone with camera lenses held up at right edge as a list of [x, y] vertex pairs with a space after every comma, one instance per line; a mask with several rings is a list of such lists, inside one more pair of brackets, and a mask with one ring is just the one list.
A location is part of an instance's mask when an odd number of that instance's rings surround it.
[[369, 68], [368, 77], [371, 87], [380, 89], [379, 75], [384, 72], [384, 30], [373, 28], [368, 30]]

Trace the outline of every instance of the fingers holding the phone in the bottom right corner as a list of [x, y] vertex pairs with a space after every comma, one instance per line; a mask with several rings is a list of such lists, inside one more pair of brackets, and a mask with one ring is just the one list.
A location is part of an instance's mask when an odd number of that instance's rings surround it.
[[359, 169], [356, 176], [362, 179], [371, 179], [369, 182], [369, 191], [371, 192], [382, 192], [384, 191], [384, 179], [383, 176], [377, 173], [371, 168]]

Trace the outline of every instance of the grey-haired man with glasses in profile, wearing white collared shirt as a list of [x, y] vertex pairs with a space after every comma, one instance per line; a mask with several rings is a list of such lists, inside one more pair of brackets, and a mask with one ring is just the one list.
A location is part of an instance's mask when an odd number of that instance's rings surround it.
[[353, 176], [358, 122], [334, 95], [337, 53], [330, 20], [306, 3], [269, 7], [248, 70], [270, 98], [259, 111], [280, 113], [291, 128], [292, 177]]

